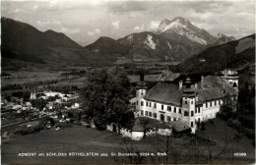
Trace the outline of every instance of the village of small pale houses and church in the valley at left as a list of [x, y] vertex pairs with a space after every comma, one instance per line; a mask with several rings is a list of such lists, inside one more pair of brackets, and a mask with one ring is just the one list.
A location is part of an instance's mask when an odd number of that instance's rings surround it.
[[[2, 138], [12, 138], [15, 134], [30, 134], [42, 121], [46, 129], [60, 129], [62, 123], [78, 123], [81, 109], [77, 92], [61, 93], [57, 91], [40, 91], [32, 89], [30, 99], [24, 101], [16, 96], [1, 97], [2, 130], [18, 126], [10, 132], [2, 132]], [[9, 101], [8, 101], [8, 100]], [[50, 122], [51, 121], [51, 122]], [[83, 124], [83, 122], [82, 122]], [[20, 127], [22, 126], [22, 127]], [[54, 127], [55, 126], [55, 127]], [[42, 128], [41, 128], [42, 129]], [[9, 130], [9, 129], [8, 129]], [[28, 131], [28, 133], [26, 133]]]

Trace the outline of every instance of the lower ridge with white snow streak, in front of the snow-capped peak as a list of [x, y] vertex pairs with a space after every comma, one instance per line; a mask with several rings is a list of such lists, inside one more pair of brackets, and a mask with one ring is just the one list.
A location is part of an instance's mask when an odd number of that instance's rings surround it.
[[186, 43], [180, 44], [151, 31], [132, 33], [117, 41], [130, 48], [129, 55], [135, 61], [180, 61], [192, 50]]

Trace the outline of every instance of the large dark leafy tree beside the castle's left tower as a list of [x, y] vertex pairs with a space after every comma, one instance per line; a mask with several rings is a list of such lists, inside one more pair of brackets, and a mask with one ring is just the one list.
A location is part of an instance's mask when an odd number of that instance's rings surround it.
[[[120, 129], [127, 120], [130, 84], [125, 72], [119, 68], [88, 73], [89, 84], [82, 90], [82, 107], [86, 117], [93, 120], [98, 130], [115, 123]], [[119, 130], [118, 130], [119, 132]]]

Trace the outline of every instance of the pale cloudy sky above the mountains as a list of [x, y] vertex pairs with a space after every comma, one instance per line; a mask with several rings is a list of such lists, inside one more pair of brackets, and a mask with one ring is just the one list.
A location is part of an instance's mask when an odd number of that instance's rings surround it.
[[82, 46], [100, 36], [114, 39], [156, 30], [183, 17], [212, 34], [235, 38], [255, 32], [255, 1], [2, 0], [1, 15], [41, 31], [63, 32]]

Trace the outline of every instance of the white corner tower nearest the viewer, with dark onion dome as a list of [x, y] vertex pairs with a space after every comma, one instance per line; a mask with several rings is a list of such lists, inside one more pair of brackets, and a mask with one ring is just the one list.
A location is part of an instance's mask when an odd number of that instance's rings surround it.
[[191, 80], [186, 79], [185, 89], [182, 93], [182, 121], [187, 123], [192, 130], [195, 132], [195, 104], [196, 104], [196, 92], [191, 87]]

